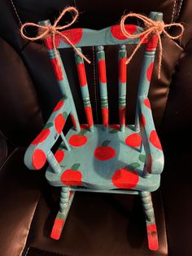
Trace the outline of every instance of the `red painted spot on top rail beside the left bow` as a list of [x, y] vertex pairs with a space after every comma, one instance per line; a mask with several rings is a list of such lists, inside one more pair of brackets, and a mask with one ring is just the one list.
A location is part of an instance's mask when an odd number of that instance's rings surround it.
[[[78, 42], [81, 41], [81, 38], [83, 36], [83, 29], [68, 29], [62, 31], [61, 33], [63, 33], [64, 36], [66, 36], [74, 45], [76, 45]], [[68, 40], [66, 40], [65, 38], [60, 37], [60, 39], [70, 45]]]

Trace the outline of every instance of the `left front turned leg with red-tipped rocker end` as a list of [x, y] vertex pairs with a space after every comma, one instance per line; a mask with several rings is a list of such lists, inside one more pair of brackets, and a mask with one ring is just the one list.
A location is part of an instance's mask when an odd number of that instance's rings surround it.
[[70, 187], [61, 188], [59, 212], [55, 218], [55, 223], [50, 235], [50, 237], [55, 240], [59, 240], [59, 237], [61, 236], [61, 232], [63, 230], [65, 220], [68, 217], [68, 211], [72, 205], [74, 195], [75, 192], [71, 191]]

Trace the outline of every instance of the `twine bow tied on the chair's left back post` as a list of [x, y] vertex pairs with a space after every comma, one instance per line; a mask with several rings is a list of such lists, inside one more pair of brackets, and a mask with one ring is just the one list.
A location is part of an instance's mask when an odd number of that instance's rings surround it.
[[[63, 18], [63, 15], [66, 14], [66, 12], [68, 11], [72, 11], [75, 15], [72, 17], [72, 21], [64, 26], [59, 26], [59, 21]], [[58, 34], [60, 35], [60, 37], [64, 38], [72, 47], [73, 49], [76, 51], [76, 53], [78, 55], [81, 56], [81, 58], [83, 58], [87, 63], [90, 64], [90, 60], [88, 60], [85, 55], [82, 54], [81, 51], [79, 51], [76, 46], [72, 43], [72, 41], [65, 36], [63, 33], [59, 32], [59, 30], [63, 30], [63, 29], [67, 29], [69, 28], [73, 23], [76, 22], [77, 18], [79, 16], [79, 12], [76, 10], [75, 7], [67, 7], [65, 9], [63, 9], [63, 11], [61, 12], [61, 14], [59, 15], [59, 17], [57, 18], [57, 20], [55, 20], [55, 24], [53, 25], [48, 25], [48, 26], [42, 26], [33, 22], [27, 22], [25, 24], [23, 24], [20, 28], [20, 33], [21, 36], [25, 39], [31, 40], [31, 41], [36, 41], [39, 39], [43, 39], [43, 38], [47, 38], [48, 36], [52, 37], [52, 42], [53, 42], [53, 46], [54, 46], [54, 51], [55, 51], [55, 55], [57, 57], [57, 59], [59, 60], [59, 55], [58, 55], [58, 51], [57, 51], [57, 47], [55, 46], [55, 35]], [[39, 34], [37, 37], [35, 38], [31, 38], [28, 37], [24, 34], [24, 29], [28, 26], [32, 26], [32, 27], [36, 27], [39, 29]]]

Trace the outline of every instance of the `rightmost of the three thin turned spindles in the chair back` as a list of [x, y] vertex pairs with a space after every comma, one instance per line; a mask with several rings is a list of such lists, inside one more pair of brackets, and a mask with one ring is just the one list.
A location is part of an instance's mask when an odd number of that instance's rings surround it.
[[119, 46], [119, 117], [120, 130], [124, 131], [126, 119], [126, 82], [127, 82], [127, 50], [125, 45]]

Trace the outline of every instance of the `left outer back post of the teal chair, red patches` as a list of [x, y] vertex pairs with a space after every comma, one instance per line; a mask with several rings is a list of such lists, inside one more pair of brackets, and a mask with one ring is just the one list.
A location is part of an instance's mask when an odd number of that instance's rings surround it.
[[[50, 20], [42, 20], [38, 22], [38, 24], [43, 26], [50, 26]], [[41, 29], [40, 29], [41, 31]], [[75, 126], [76, 130], [81, 130], [79, 119], [76, 113], [76, 106], [74, 104], [73, 98], [72, 98], [72, 91], [70, 89], [69, 83], [68, 83], [68, 77], [65, 72], [65, 69], [63, 67], [63, 61], [61, 60], [61, 56], [59, 54], [59, 51], [57, 50], [57, 55], [55, 55], [55, 50], [53, 47], [52, 38], [48, 36], [44, 39], [47, 51], [49, 53], [50, 62], [54, 68], [55, 77], [57, 79], [59, 89], [63, 95], [64, 98], [68, 98], [71, 102], [71, 113], [70, 116], [72, 118], [72, 123]]]

